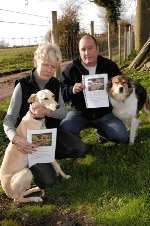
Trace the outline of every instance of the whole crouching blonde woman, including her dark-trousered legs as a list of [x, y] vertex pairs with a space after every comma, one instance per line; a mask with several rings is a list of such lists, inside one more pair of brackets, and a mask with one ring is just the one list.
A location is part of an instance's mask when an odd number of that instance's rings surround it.
[[[4, 119], [4, 131], [16, 146], [18, 151], [28, 154], [36, 151], [36, 144], [31, 145], [24, 138], [16, 135], [16, 126], [22, 117], [29, 110], [28, 98], [32, 93], [36, 93], [41, 89], [49, 89], [55, 95], [55, 100], [59, 104], [59, 108], [55, 112], [50, 112], [44, 107], [34, 105], [30, 111], [34, 118], [45, 117], [47, 128], [58, 128], [60, 120], [65, 116], [64, 102], [61, 96], [60, 83], [56, 78], [56, 70], [61, 62], [61, 52], [59, 48], [50, 43], [40, 44], [34, 54], [34, 68], [31, 74], [16, 82], [10, 105]], [[73, 147], [73, 148], [72, 148]], [[86, 146], [80, 142], [79, 138], [72, 134], [66, 134], [58, 131], [56, 158], [79, 157], [86, 151]], [[41, 188], [50, 186], [56, 179], [56, 173], [51, 164], [33, 166], [31, 171], [34, 175], [36, 184]]]

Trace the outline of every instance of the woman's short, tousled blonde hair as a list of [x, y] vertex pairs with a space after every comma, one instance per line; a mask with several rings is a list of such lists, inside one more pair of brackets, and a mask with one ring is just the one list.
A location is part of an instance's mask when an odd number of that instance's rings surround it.
[[37, 66], [38, 60], [52, 60], [56, 63], [62, 61], [60, 48], [57, 45], [52, 45], [49, 42], [39, 44], [34, 52], [34, 66]]

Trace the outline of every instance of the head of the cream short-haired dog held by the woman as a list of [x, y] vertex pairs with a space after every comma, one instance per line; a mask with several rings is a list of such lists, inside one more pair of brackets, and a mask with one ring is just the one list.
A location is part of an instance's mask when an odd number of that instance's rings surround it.
[[35, 102], [40, 103], [51, 111], [55, 111], [58, 106], [57, 102], [55, 101], [54, 94], [48, 89], [40, 90], [36, 94], [32, 94], [29, 97], [28, 103]]

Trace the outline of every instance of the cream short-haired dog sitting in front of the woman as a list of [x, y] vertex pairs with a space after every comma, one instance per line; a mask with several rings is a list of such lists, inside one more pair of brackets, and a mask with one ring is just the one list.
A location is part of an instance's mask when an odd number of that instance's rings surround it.
[[[30, 104], [38, 102], [51, 111], [55, 111], [57, 103], [54, 100], [54, 94], [45, 89], [32, 94], [28, 100]], [[37, 120], [32, 117], [30, 111], [22, 118], [17, 127], [16, 134], [26, 138], [27, 129], [41, 129], [43, 128], [43, 119]], [[66, 175], [56, 160], [52, 163], [57, 175], [68, 179], [70, 176]], [[1, 186], [8, 197], [16, 202], [41, 202], [40, 196], [25, 197], [33, 192], [41, 191], [39, 187], [31, 188], [31, 181], [33, 175], [28, 168], [27, 154], [17, 150], [17, 146], [12, 142], [9, 143], [0, 168]]]

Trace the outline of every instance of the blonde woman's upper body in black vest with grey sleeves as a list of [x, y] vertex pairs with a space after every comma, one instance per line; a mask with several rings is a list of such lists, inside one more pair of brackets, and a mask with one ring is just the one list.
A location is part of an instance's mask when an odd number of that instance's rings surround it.
[[[4, 131], [9, 140], [15, 143], [20, 151], [30, 152], [33, 147], [26, 140], [16, 135], [16, 125], [29, 110], [28, 98], [32, 93], [41, 89], [50, 89], [55, 94], [59, 103], [59, 109], [55, 112], [47, 112], [45, 108], [34, 106], [30, 109], [35, 118], [47, 117], [46, 124], [51, 127], [58, 127], [60, 119], [65, 116], [64, 103], [60, 93], [59, 81], [55, 78], [58, 64], [61, 61], [61, 52], [58, 47], [50, 43], [43, 43], [38, 46], [34, 54], [34, 68], [31, 74], [17, 81], [13, 91], [10, 105], [4, 119]], [[35, 114], [36, 109], [36, 114]]]

